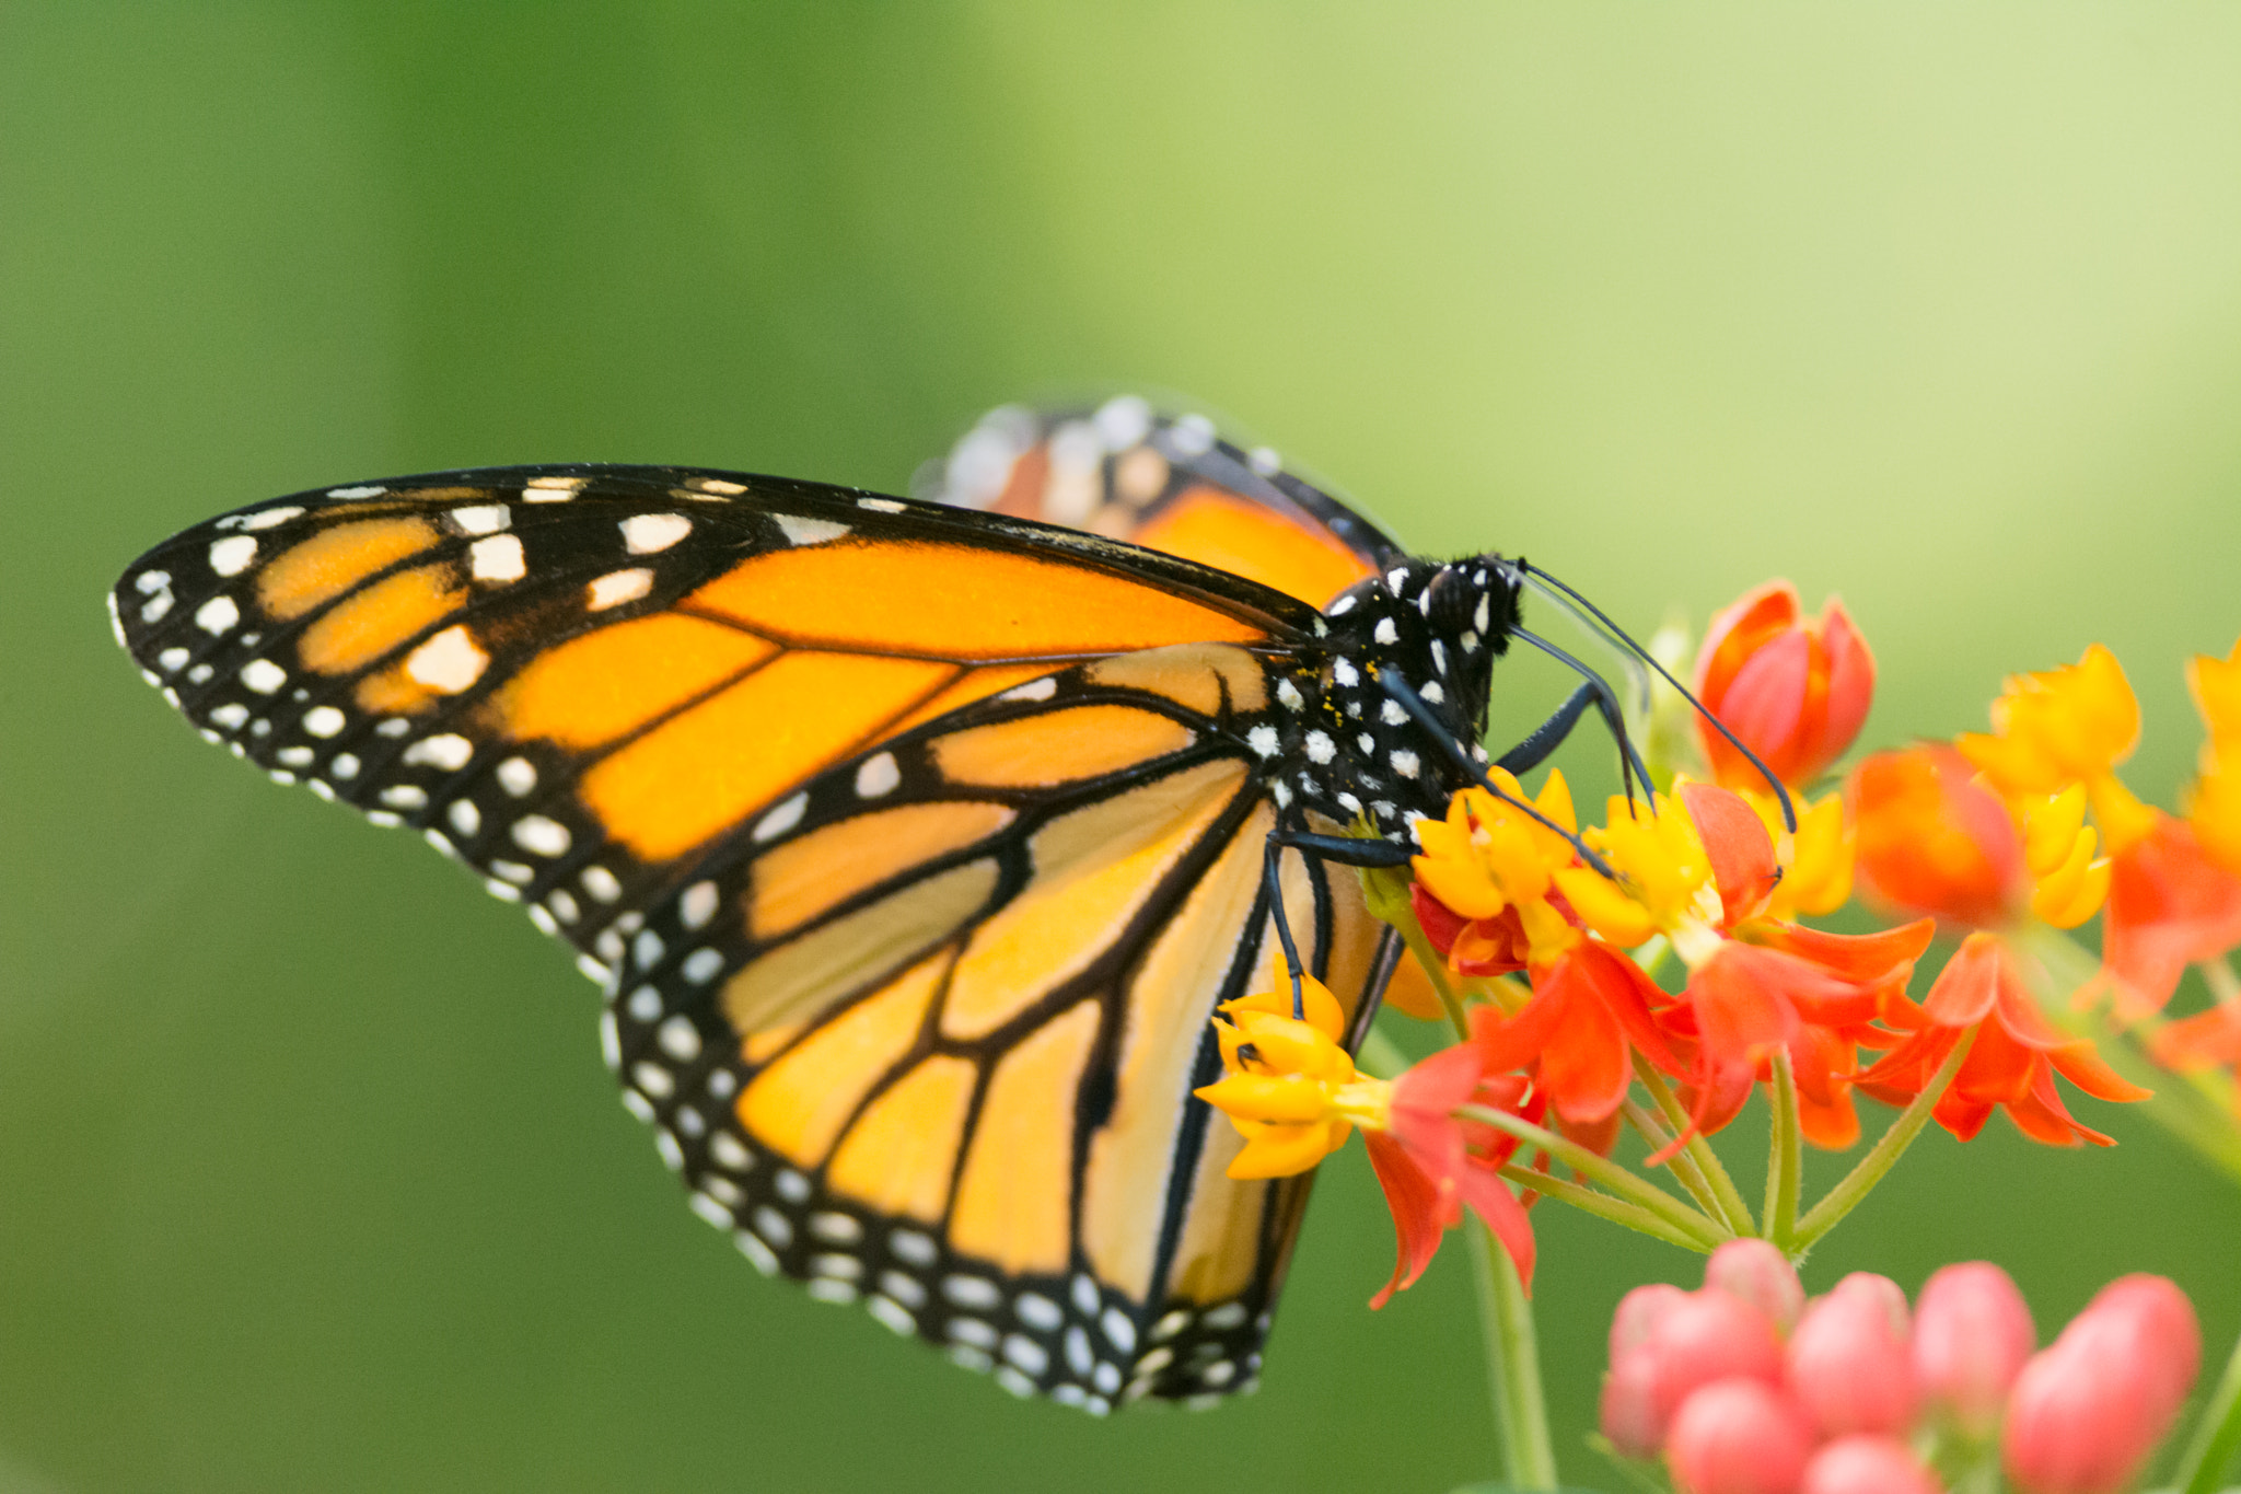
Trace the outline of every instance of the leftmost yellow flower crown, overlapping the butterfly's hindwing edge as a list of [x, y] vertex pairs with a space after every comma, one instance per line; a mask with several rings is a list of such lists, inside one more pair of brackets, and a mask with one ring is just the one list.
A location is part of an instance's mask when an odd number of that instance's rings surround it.
[[1215, 1017], [1215, 1035], [1224, 1077], [1194, 1091], [1246, 1138], [1230, 1160], [1233, 1178], [1307, 1171], [1347, 1145], [1354, 1127], [1383, 1131], [1392, 1115], [1392, 1084], [1356, 1073], [1338, 1046], [1345, 1012], [1329, 988], [1300, 977], [1302, 1021], [1291, 1015], [1291, 977], [1275, 974], [1275, 990], [1221, 1003], [1228, 1021]]

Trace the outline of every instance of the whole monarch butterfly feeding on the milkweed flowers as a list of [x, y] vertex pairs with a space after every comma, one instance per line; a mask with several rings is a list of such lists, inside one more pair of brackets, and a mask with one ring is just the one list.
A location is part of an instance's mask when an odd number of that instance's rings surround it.
[[928, 486], [336, 486], [110, 609], [206, 739], [576, 947], [623, 1102], [760, 1270], [1094, 1413], [1250, 1389], [1309, 1178], [1224, 1176], [1208, 1017], [1282, 956], [1360, 1039], [1398, 947], [1347, 865], [1481, 775], [1546, 582], [1141, 399], [999, 410]]

